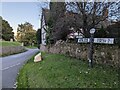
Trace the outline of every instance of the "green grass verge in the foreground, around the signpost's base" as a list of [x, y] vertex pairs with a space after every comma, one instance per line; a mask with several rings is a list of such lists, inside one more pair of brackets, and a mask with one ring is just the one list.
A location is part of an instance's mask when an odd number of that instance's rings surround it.
[[31, 58], [20, 70], [17, 88], [117, 88], [118, 72], [59, 54], [42, 53], [43, 61]]

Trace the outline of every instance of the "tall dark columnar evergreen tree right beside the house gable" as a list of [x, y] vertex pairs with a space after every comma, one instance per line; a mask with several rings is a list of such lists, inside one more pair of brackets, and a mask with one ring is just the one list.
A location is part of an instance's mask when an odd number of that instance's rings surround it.
[[59, 22], [61, 22], [61, 18], [64, 17], [65, 11], [66, 11], [65, 2], [50, 2], [50, 19], [48, 23], [49, 27], [48, 29], [50, 30], [48, 33], [49, 40], [57, 41], [58, 39], [62, 38], [61, 36], [63, 36], [62, 35], [63, 33], [62, 32], [60, 33], [60, 31], [63, 29], [64, 23], [60, 25], [61, 23]]

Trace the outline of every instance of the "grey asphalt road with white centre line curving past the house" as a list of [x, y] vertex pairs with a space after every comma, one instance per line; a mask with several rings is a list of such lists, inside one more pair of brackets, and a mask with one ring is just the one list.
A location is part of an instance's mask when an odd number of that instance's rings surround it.
[[38, 49], [28, 49], [28, 51], [16, 55], [0, 58], [2, 60], [2, 88], [13, 88], [17, 74], [25, 61], [30, 59]]

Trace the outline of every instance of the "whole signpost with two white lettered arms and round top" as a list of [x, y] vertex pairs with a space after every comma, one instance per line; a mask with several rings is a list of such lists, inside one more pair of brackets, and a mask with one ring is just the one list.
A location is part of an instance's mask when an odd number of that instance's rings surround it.
[[93, 43], [114, 44], [114, 38], [94, 38], [94, 33], [95, 29], [92, 28], [90, 30], [90, 38], [78, 38], [78, 43], [90, 43], [88, 61], [91, 68], [93, 67]]

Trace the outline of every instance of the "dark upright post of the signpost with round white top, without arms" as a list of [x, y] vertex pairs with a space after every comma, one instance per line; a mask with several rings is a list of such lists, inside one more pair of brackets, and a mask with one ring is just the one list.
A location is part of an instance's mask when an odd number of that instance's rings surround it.
[[90, 50], [89, 50], [89, 56], [88, 56], [88, 61], [89, 61], [89, 67], [93, 67], [93, 42], [94, 42], [94, 33], [95, 33], [95, 29], [92, 28], [90, 30]]

